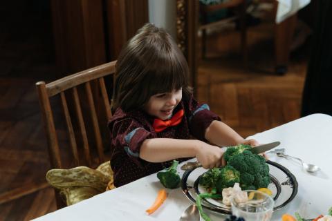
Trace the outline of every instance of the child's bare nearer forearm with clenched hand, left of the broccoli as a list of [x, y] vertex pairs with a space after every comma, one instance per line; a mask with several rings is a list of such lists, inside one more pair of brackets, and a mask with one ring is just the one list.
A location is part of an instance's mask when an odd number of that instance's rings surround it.
[[140, 158], [149, 162], [165, 162], [182, 157], [197, 157], [205, 169], [221, 166], [223, 150], [199, 140], [172, 138], [147, 139], [140, 147]]

